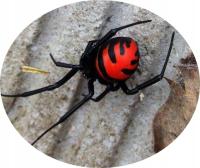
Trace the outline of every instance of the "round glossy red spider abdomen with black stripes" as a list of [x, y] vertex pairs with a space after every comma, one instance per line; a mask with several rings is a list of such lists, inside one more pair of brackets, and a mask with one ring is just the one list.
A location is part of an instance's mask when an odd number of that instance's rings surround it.
[[129, 37], [116, 37], [100, 48], [96, 70], [99, 77], [106, 81], [122, 81], [134, 73], [138, 63], [137, 43]]

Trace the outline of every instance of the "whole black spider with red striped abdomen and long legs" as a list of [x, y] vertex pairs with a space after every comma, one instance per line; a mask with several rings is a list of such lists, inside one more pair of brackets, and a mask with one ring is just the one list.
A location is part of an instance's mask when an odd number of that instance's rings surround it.
[[[32, 142], [32, 145], [34, 145], [51, 129], [68, 119], [69, 116], [71, 116], [87, 101], [92, 100], [98, 102], [103, 99], [109, 92], [117, 91], [118, 89], [122, 89], [122, 91], [127, 95], [133, 95], [163, 79], [172, 50], [175, 32], [172, 33], [168, 53], [160, 74], [156, 75], [150, 80], [147, 80], [144, 83], [137, 85], [133, 89], [129, 89], [125, 83], [126, 80], [129, 79], [138, 68], [140, 59], [138, 45], [137, 42], [135, 42], [130, 37], [113, 36], [120, 30], [148, 22], [151, 22], [151, 20], [138, 21], [125, 26], [114, 28], [107, 32], [102, 38], [89, 41], [85, 51], [80, 58], [79, 65], [57, 62], [53, 55], [50, 53], [50, 57], [56, 66], [71, 69], [62, 79], [54, 84], [32, 91], [27, 91], [19, 94], [1, 94], [5, 97], [27, 97], [45, 91], [51, 91], [62, 86], [78, 71], [81, 71], [83, 76], [88, 80], [88, 94], [84, 95], [84, 98], [81, 101], [76, 103], [70, 110], [61, 116], [57, 122], [55, 122], [42, 134], [40, 134], [40, 136]], [[101, 94], [94, 98], [94, 82], [96, 80], [98, 80], [101, 84], [106, 85], [106, 88]]]

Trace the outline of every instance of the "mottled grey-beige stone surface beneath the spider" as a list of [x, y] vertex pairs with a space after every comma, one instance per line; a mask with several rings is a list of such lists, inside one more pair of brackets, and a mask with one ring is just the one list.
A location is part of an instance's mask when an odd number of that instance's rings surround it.
[[[2, 92], [18, 93], [58, 81], [68, 70], [55, 67], [50, 52], [56, 60], [78, 64], [89, 40], [102, 37], [112, 28], [147, 19], [153, 21], [117, 34], [134, 38], [140, 48], [141, 74], [136, 73], [128, 81], [134, 87], [160, 73], [174, 29], [147, 10], [119, 2], [90, 1], [56, 9], [20, 34], [4, 61]], [[167, 78], [178, 81], [179, 72], [174, 65], [190, 53], [176, 32]], [[20, 71], [21, 65], [41, 68], [50, 74], [25, 74]], [[86, 84], [78, 74], [52, 92], [27, 98], [3, 98], [3, 102], [13, 125], [32, 142], [83, 98]], [[95, 95], [103, 89], [104, 86], [95, 82]], [[166, 80], [133, 96], [121, 90], [112, 92], [98, 103], [86, 103], [35, 146], [58, 160], [81, 166], [119, 166], [142, 160], [154, 154], [153, 119], [169, 92]]]

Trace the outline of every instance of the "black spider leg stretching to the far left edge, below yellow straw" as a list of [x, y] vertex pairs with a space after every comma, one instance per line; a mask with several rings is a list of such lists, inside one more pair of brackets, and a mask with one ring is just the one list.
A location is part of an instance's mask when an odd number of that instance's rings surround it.
[[27, 97], [27, 96], [32, 96], [32, 95], [42, 93], [45, 91], [54, 90], [54, 89], [62, 86], [63, 84], [65, 84], [72, 76], [74, 76], [76, 74], [77, 71], [78, 71], [78, 69], [76, 69], [76, 68], [70, 70], [61, 80], [59, 80], [58, 82], [56, 82], [52, 85], [46, 86], [46, 87], [42, 87], [39, 89], [35, 89], [32, 91], [27, 91], [27, 92], [19, 93], [19, 94], [1, 94], [1, 96], [4, 96], [4, 97]]

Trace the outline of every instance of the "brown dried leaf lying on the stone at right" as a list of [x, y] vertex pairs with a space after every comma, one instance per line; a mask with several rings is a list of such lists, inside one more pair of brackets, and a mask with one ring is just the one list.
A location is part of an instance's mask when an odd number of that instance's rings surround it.
[[[154, 118], [153, 131], [155, 152], [159, 152], [169, 145], [186, 127], [195, 110], [199, 95], [199, 73], [194, 56], [190, 55], [181, 60], [178, 66], [182, 75], [182, 82], [176, 83], [167, 79], [171, 92], [167, 102], [159, 109]], [[189, 67], [189, 68], [188, 68]]]

